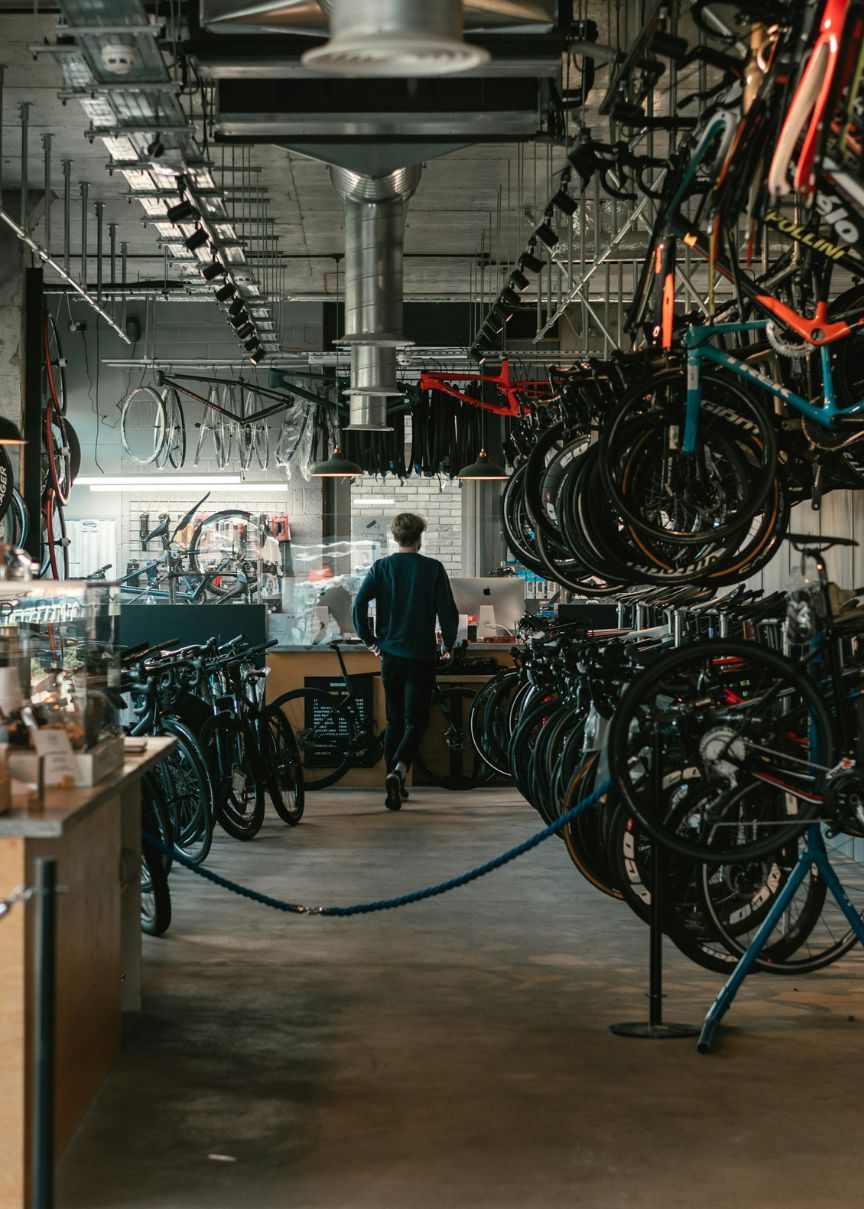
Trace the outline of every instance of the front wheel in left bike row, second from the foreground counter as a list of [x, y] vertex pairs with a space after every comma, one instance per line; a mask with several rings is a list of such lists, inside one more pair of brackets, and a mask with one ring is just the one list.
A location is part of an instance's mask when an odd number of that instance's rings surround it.
[[170, 804], [174, 851], [201, 864], [213, 843], [215, 787], [198, 740], [179, 718], [166, 716], [161, 734], [176, 746], [156, 765], [162, 792]]

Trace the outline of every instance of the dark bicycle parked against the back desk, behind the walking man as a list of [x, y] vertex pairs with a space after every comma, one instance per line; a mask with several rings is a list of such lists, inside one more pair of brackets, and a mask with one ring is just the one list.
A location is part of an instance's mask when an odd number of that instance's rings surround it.
[[[336, 785], [352, 767], [373, 768], [384, 754], [383, 733], [376, 731], [367, 700], [356, 692], [356, 679], [363, 677], [348, 675], [338, 642], [329, 646], [338, 660], [338, 687], [291, 689], [269, 705], [284, 716], [296, 737], [307, 789]], [[377, 673], [365, 675], [371, 678]], [[433, 785], [469, 789], [493, 776], [468, 731], [475, 695], [475, 689], [463, 686], [435, 684], [429, 730], [414, 760]]]

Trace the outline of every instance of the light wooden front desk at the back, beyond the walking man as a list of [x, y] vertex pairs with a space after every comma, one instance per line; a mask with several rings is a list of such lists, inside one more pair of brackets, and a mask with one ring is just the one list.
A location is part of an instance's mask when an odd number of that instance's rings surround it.
[[[372, 675], [372, 710], [375, 723], [378, 730], [383, 730], [387, 724], [387, 712], [384, 708], [384, 687], [381, 683], [381, 660], [371, 650], [360, 643], [346, 643], [341, 647], [349, 676]], [[499, 665], [510, 666], [510, 643], [477, 642], [469, 646], [469, 655], [492, 655]], [[307, 677], [330, 677], [337, 679], [341, 676], [338, 659], [330, 647], [272, 647], [267, 652], [267, 700], [272, 701], [280, 693], [288, 693], [294, 688], [305, 688]], [[476, 676], [471, 673], [439, 676], [443, 683], [457, 684], [482, 684], [488, 675]], [[338, 785], [342, 788], [379, 788], [384, 783], [384, 762], [379, 760], [373, 768], [352, 768], [346, 773]]]

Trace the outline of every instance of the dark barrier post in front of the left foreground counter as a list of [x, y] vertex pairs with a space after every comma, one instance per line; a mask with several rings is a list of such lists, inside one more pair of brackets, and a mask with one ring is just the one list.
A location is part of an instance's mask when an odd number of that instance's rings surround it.
[[54, 983], [57, 862], [36, 861], [35, 1069], [33, 1088], [33, 1209], [54, 1203]]

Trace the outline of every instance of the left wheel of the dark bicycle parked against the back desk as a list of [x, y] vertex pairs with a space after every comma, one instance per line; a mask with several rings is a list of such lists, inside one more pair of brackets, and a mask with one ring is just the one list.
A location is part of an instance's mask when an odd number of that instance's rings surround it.
[[343, 696], [325, 689], [295, 688], [271, 701], [271, 711], [282, 713], [291, 728], [307, 789], [325, 789], [346, 775], [364, 735]]

